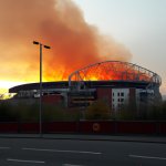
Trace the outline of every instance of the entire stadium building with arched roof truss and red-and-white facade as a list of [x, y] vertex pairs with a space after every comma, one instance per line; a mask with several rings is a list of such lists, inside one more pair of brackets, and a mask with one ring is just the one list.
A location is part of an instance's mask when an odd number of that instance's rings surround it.
[[[162, 100], [159, 86], [162, 79], [139, 65], [104, 61], [76, 70], [68, 81], [43, 82], [44, 102], [63, 102], [68, 107], [87, 106], [94, 101], [103, 100], [112, 110], [117, 111], [124, 104], [154, 104]], [[9, 90], [17, 93], [14, 98], [38, 98], [40, 84], [22, 84]]]

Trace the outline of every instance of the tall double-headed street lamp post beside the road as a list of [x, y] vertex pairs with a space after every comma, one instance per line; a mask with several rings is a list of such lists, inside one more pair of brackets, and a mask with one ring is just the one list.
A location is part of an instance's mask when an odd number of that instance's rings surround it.
[[39, 133], [42, 137], [42, 48], [51, 49], [48, 45], [44, 45], [38, 41], [33, 41], [33, 44], [40, 45], [40, 110], [39, 110]]

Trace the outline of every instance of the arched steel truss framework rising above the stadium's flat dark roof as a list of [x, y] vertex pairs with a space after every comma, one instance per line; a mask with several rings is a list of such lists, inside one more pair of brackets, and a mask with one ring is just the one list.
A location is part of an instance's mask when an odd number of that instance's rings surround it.
[[158, 74], [139, 65], [121, 61], [105, 61], [87, 65], [69, 76], [70, 86], [72, 81], [132, 81], [153, 83], [158, 86], [162, 84]]

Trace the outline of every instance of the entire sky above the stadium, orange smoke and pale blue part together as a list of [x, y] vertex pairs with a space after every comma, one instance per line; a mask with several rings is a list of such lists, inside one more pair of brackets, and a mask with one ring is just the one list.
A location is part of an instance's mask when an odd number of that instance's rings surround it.
[[123, 60], [159, 74], [166, 94], [166, 0], [0, 2], [0, 93], [39, 81], [35, 39], [52, 48], [43, 51], [44, 81], [66, 80], [90, 63]]

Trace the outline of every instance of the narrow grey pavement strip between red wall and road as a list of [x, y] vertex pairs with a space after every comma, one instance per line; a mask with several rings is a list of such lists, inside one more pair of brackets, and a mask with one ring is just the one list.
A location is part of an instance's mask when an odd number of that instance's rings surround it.
[[166, 136], [149, 135], [96, 135], [96, 134], [0, 134], [0, 138], [43, 138], [76, 141], [111, 141], [166, 144]]

